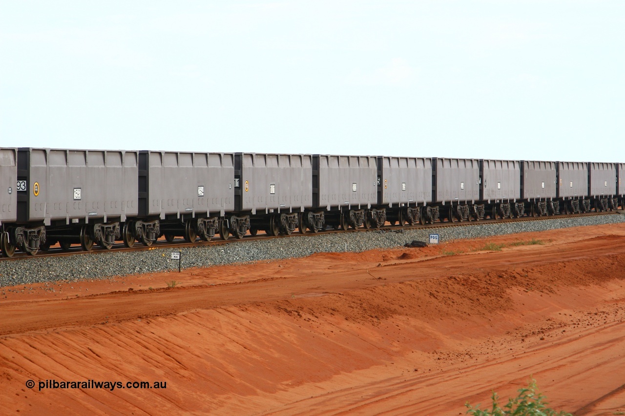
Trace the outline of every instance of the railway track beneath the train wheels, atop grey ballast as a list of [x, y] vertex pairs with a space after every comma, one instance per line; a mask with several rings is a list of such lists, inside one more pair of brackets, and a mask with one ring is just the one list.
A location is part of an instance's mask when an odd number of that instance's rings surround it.
[[613, 211], [606, 211], [606, 212], [586, 212], [583, 214], [571, 214], [571, 215], [562, 214], [562, 215], [556, 215], [556, 216], [549, 215], [549, 216], [542, 216], [542, 217], [519, 217], [519, 218], [496, 219], [496, 220], [487, 219], [487, 220], [481, 220], [481, 221], [472, 220], [472, 221], [464, 221], [464, 222], [449, 222], [449, 220], [445, 220], [444, 222], [435, 222], [434, 224], [404, 225], [403, 227], [401, 227], [400, 225], [387, 224], [387, 225], [384, 225], [384, 227], [378, 228], [378, 229], [359, 228], [359, 229], [349, 229], [346, 231], [327, 229], [318, 233], [307, 232], [306, 234], [300, 234], [299, 232], [294, 232], [291, 235], [277, 235], [277, 236], [271, 236], [271, 235], [266, 235], [266, 234], [252, 236], [252, 235], [247, 234], [242, 239], [233, 239], [231, 237], [228, 240], [222, 240], [219, 237], [214, 237], [213, 239], [209, 241], [201, 241], [198, 239], [196, 240], [196, 242], [193, 242], [193, 243], [184, 242], [184, 239], [175, 239], [173, 242], [170, 243], [170, 242], [167, 242], [164, 238], [161, 238], [158, 241], [154, 242], [154, 244], [151, 245], [150, 247], [146, 247], [145, 245], [138, 244], [138, 245], [135, 245], [134, 247], [128, 248], [128, 247], [125, 247], [123, 243], [119, 243], [119, 244], [114, 244], [113, 247], [109, 250], [100, 249], [98, 246], [94, 246], [94, 249], [89, 252], [83, 251], [81, 247], [79, 247], [79, 245], [75, 245], [74, 247], [71, 247], [67, 251], [61, 250], [61, 247], [57, 246], [57, 247], [51, 247], [46, 252], [39, 252], [39, 254], [34, 255], [34, 256], [27, 255], [24, 252], [16, 252], [14, 257], [0, 258], [0, 261], [16, 261], [16, 260], [19, 261], [23, 259], [41, 259], [42, 257], [63, 257], [63, 256], [68, 256], [68, 255], [76, 255], [76, 254], [98, 255], [101, 253], [108, 253], [108, 252], [138, 252], [138, 251], [155, 250], [155, 249], [182, 249], [182, 248], [207, 246], [207, 245], [235, 244], [236, 242], [241, 242], [241, 241], [258, 241], [258, 240], [267, 241], [270, 239], [293, 237], [296, 235], [306, 237], [306, 236], [313, 236], [313, 235], [320, 235], [320, 234], [332, 234], [332, 233], [337, 233], [337, 232], [348, 232], [348, 233], [349, 232], [380, 232], [380, 231], [399, 232], [400, 230], [403, 230], [403, 229], [439, 229], [439, 228], [446, 228], [446, 227], [467, 227], [467, 226], [470, 227], [471, 225], [482, 225], [482, 224], [503, 224], [503, 223], [511, 223], [511, 222], [580, 218], [580, 217], [592, 217], [592, 216], [597, 216], [597, 215], [614, 215], [614, 214], [625, 214], [625, 210], [613, 210]]

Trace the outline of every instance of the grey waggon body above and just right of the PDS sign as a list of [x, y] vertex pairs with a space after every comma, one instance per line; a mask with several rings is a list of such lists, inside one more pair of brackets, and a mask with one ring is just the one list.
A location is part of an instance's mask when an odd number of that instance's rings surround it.
[[436, 197], [434, 202], [479, 201], [479, 160], [434, 158]]

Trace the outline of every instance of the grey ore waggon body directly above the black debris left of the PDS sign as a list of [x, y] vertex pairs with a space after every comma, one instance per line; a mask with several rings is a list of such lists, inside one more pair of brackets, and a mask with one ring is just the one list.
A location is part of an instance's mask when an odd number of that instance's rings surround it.
[[379, 204], [427, 204], [432, 202], [432, 159], [429, 157], [377, 158], [381, 171]]

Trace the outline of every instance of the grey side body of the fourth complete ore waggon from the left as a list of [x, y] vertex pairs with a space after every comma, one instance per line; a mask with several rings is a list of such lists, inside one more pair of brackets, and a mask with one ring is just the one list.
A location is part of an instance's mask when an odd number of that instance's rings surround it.
[[319, 166], [319, 208], [362, 209], [377, 204], [376, 156], [313, 157], [317, 158]]

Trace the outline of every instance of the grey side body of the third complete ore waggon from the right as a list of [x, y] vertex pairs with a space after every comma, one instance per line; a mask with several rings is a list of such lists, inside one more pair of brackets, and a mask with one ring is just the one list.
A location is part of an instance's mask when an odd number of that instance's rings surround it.
[[522, 199], [553, 199], [557, 196], [556, 162], [521, 161]]

